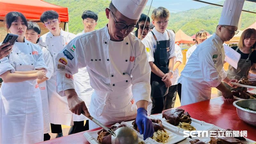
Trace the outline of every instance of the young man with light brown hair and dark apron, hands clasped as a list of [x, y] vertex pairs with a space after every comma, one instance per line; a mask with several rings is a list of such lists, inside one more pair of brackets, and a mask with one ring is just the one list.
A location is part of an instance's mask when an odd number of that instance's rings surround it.
[[148, 62], [151, 67], [151, 100], [152, 114], [162, 113], [169, 87], [172, 85], [173, 66], [175, 55], [175, 34], [167, 30], [170, 12], [164, 7], [154, 9], [151, 15], [155, 28], [142, 40], [146, 46]]

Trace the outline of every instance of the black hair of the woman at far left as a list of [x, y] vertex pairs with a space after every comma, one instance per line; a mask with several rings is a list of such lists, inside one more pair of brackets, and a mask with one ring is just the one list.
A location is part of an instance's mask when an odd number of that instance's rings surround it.
[[8, 12], [5, 15], [5, 19], [4, 19], [7, 31], [12, 26], [12, 22], [15, 21], [15, 20], [18, 20], [19, 17], [25, 23], [26, 27], [28, 27], [27, 19], [25, 18], [25, 16], [22, 13], [20, 13], [20, 12]]

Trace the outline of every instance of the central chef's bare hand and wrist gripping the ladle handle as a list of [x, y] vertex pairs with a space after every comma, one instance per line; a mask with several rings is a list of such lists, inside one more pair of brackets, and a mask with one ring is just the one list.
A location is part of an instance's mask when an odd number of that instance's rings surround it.
[[77, 96], [76, 91], [74, 89], [66, 90], [65, 94], [67, 95], [69, 110], [72, 113], [76, 115], [81, 115], [82, 111], [84, 111], [86, 116], [90, 116], [90, 113], [84, 101]]

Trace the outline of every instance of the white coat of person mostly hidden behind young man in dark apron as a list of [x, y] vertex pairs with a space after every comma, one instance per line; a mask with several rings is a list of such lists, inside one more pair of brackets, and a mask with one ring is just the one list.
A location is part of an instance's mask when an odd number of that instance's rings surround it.
[[[180, 61], [180, 64], [182, 64], [183, 55], [182, 55], [180, 46], [177, 44], [175, 44], [175, 55], [176, 57], [174, 58], [174, 64], [177, 61]], [[176, 68], [176, 70], [173, 73], [173, 77], [171, 78], [172, 85], [178, 84], [179, 78], [180, 78], [179, 69]]]

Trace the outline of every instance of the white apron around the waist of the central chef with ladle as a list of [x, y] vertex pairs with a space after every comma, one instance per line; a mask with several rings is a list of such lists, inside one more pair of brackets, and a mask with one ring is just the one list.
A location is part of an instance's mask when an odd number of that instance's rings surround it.
[[[92, 94], [90, 114], [104, 125], [114, 124], [136, 118], [137, 108], [132, 104], [131, 86], [117, 92], [103, 92], [95, 90]], [[97, 124], [89, 120], [89, 128], [98, 128]]]

